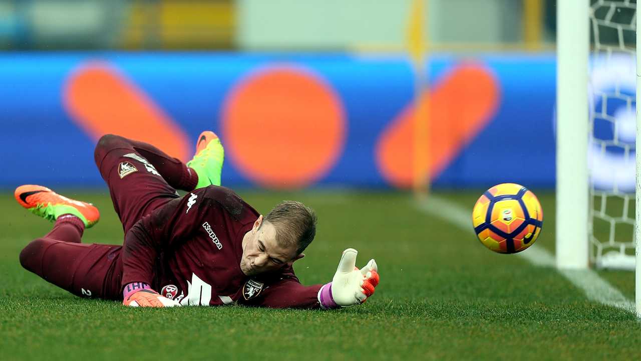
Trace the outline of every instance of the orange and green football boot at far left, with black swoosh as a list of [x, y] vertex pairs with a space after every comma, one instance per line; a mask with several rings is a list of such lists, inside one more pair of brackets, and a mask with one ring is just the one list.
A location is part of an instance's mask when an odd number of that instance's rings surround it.
[[70, 214], [80, 218], [89, 228], [100, 219], [100, 212], [93, 204], [63, 197], [47, 187], [26, 184], [16, 188], [13, 195], [29, 212], [52, 222]]

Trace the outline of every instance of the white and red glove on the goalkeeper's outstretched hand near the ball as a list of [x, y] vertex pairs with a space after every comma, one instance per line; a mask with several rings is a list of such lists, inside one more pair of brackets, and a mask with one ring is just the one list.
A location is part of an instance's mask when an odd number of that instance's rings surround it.
[[345, 249], [338, 269], [330, 283], [323, 285], [318, 294], [322, 308], [338, 308], [362, 304], [374, 294], [379, 282], [376, 261], [370, 260], [362, 269], [356, 268], [358, 251]]

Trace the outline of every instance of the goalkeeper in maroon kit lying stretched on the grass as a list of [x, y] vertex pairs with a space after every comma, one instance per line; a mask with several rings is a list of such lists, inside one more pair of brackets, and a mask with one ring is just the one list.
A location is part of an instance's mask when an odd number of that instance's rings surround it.
[[[224, 150], [213, 132], [201, 134], [187, 164], [113, 135], [100, 139], [94, 156], [124, 228], [122, 246], [80, 243], [99, 219], [91, 204], [42, 186], [15, 190], [23, 207], [55, 220], [22, 250], [22, 267], [72, 294], [127, 306], [338, 308], [374, 293], [376, 262], [356, 269], [353, 249], [343, 252], [332, 282], [301, 285], [292, 263], [314, 238], [315, 214], [285, 201], [263, 217], [219, 186]], [[176, 189], [190, 193], [179, 197]]]

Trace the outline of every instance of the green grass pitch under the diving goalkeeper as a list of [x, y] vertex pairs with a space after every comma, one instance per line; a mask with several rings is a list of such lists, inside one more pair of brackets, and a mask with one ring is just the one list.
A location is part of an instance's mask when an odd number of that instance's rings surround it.
[[[94, 202], [102, 211], [101, 222], [85, 232], [83, 242], [122, 243], [108, 195], [61, 193]], [[331, 280], [341, 252], [353, 247], [359, 266], [376, 258], [381, 274], [376, 294], [363, 306], [329, 312], [131, 309], [79, 299], [21, 268], [22, 247], [51, 225], [4, 193], [1, 358], [633, 360], [640, 355], [641, 324], [634, 315], [588, 301], [554, 269], [488, 251], [473, 234], [417, 210], [406, 193], [238, 193], [262, 213], [285, 198], [317, 210], [317, 238], [295, 265], [303, 283]], [[439, 196], [471, 212], [480, 193]], [[538, 196], [545, 219], [537, 243], [553, 252], [554, 197]], [[599, 274], [633, 299], [631, 272]]]

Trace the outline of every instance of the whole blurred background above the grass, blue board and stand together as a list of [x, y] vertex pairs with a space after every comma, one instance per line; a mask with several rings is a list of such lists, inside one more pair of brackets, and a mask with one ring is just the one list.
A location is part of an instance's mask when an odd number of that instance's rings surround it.
[[[0, 186], [97, 188], [101, 134], [188, 159], [209, 128], [226, 146], [232, 187], [406, 188], [410, 3], [351, 1], [338, 12], [315, 1], [4, 1], [0, 144], [15, 156]], [[549, 9], [431, 4], [425, 92], [435, 101], [419, 139], [435, 186], [554, 186]], [[60, 156], [45, 161], [52, 151]]]

